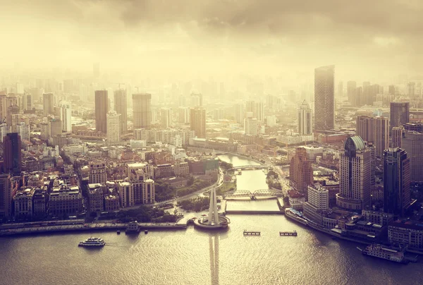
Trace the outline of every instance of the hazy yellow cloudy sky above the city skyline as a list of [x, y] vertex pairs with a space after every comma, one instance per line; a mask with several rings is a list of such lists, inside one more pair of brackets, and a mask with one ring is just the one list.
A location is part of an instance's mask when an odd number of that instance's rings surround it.
[[4, 66], [279, 75], [423, 64], [422, 0], [0, 0]]

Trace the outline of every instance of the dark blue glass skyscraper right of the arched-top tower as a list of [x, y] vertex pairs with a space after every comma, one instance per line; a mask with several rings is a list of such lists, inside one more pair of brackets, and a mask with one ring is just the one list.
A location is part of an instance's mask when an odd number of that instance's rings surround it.
[[410, 205], [410, 158], [398, 147], [384, 151], [384, 212], [399, 216]]

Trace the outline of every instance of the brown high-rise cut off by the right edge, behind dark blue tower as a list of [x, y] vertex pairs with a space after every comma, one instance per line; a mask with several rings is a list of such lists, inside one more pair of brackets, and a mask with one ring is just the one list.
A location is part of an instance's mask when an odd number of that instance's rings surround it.
[[406, 131], [401, 148], [410, 157], [410, 178], [412, 182], [423, 181], [423, 133]]

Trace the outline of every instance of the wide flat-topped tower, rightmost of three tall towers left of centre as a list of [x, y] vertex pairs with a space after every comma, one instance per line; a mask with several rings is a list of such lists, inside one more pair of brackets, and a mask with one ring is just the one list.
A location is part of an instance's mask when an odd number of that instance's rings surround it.
[[135, 128], [150, 128], [152, 121], [152, 95], [133, 94], [133, 123]]

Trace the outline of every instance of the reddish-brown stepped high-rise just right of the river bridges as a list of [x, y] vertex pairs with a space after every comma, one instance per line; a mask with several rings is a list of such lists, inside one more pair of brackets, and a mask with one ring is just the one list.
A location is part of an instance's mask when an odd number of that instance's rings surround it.
[[307, 196], [307, 187], [313, 183], [313, 169], [305, 148], [297, 147], [295, 150], [290, 161], [289, 178], [293, 187]]

